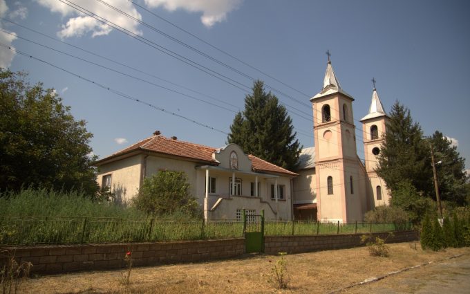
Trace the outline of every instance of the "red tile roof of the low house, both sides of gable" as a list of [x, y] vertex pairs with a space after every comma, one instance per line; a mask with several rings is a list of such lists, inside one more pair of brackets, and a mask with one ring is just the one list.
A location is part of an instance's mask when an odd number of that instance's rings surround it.
[[[110, 159], [118, 158], [132, 151], [151, 151], [159, 154], [179, 156], [218, 165], [218, 162], [212, 158], [212, 154], [214, 154], [216, 150], [217, 149], [213, 147], [207, 147], [204, 145], [198, 145], [181, 140], [174, 140], [157, 135], [141, 140], [138, 143], [116, 152], [115, 154], [111, 154], [110, 156], [100, 159], [95, 162], [95, 165], [102, 165], [104, 162]], [[297, 174], [294, 172], [290, 172], [287, 169], [283, 169], [282, 167], [268, 163], [267, 161], [256, 156], [249, 155], [248, 157], [250, 160], [252, 160], [252, 168], [254, 172], [274, 172], [279, 174], [287, 174], [289, 176], [297, 176]]]

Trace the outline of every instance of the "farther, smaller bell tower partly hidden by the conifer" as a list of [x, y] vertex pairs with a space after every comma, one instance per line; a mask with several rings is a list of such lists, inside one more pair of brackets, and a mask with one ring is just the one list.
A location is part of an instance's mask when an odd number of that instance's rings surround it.
[[361, 119], [362, 136], [364, 138], [364, 156], [366, 160], [365, 167], [370, 181], [370, 187], [368, 187], [368, 203], [373, 203], [373, 207], [370, 207], [370, 209], [379, 205], [388, 205], [391, 195], [384, 180], [379, 178], [377, 172], [375, 172], [377, 156], [380, 154], [380, 148], [384, 142], [388, 116], [384, 111], [382, 102], [380, 102], [377, 89], [375, 89], [374, 78], [372, 82], [374, 88], [369, 113]]

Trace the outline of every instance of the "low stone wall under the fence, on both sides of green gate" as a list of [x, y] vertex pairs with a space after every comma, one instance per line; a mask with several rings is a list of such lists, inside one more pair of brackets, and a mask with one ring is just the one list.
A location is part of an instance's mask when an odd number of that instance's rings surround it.
[[[388, 233], [373, 236], [386, 238]], [[265, 236], [265, 253], [298, 253], [362, 246], [361, 235]], [[387, 243], [415, 241], [416, 231], [395, 232]], [[245, 253], [245, 239], [171, 241], [133, 244], [84, 244], [0, 247], [0, 268], [6, 255], [33, 264], [32, 273], [68, 273], [77, 270], [124, 268], [124, 257], [131, 251], [133, 266], [156, 266], [240, 257]]]

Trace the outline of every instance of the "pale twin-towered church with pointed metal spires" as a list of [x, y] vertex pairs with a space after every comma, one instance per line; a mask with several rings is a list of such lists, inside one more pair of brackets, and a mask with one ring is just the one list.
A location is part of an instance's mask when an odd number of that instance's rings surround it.
[[341, 88], [328, 54], [323, 89], [310, 98], [314, 147], [301, 151], [293, 183], [294, 219], [361, 221], [368, 210], [388, 205], [391, 194], [375, 172], [388, 116], [373, 82], [369, 111], [359, 121], [363, 162], [357, 155], [354, 98]]

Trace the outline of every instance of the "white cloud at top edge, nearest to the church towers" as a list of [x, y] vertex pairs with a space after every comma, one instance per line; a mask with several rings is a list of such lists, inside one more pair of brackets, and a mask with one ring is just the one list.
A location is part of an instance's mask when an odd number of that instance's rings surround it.
[[145, 0], [149, 8], [163, 6], [169, 11], [184, 9], [189, 12], [203, 12], [200, 21], [207, 27], [225, 21], [227, 13], [238, 8], [243, 0]]

